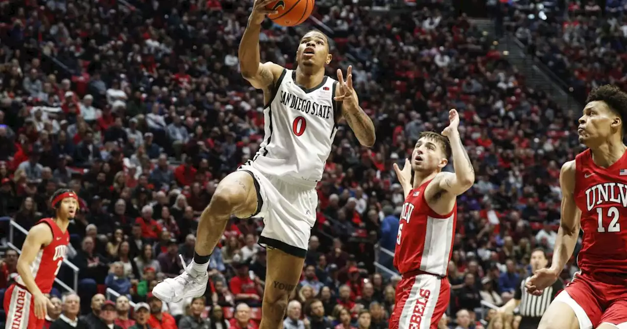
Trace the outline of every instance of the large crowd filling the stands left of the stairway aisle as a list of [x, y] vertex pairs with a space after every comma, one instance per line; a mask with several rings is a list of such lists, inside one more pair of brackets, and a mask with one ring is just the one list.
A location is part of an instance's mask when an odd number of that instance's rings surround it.
[[[78, 295], [53, 291], [50, 327], [73, 326], [78, 315], [81, 326], [97, 328], [256, 327], [266, 268], [260, 219], [229, 224], [204, 298], [162, 303], [150, 293], [181, 273], [219, 180], [263, 138], [262, 95], [241, 78], [236, 55], [248, 7], [0, 2], [0, 216], [29, 229], [51, 216], [48, 197], [58, 187], [80, 196], [69, 227]], [[371, 13], [327, 0], [310, 24], [264, 23], [261, 60], [287, 68], [303, 31], [327, 26], [327, 74], [354, 65], [362, 108], [377, 127], [377, 144], [364, 149], [340, 123], [286, 328], [387, 327], [399, 277], [375, 244], [395, 246], [403, 193], [391, 165], [404, 163], [419, 132], [448, 125], [450, 108], [460, 112], [477, 182], [458, 199], [453, 293], [441, 325], [517, 328], [516, 318], [481, 302], [503, 305], [529, 274], [531, 251], [552, 251], [559, 167], [579, 150], [568, 133], [574, 114], [525, 87], [492, 39], [451, 8], [425, 1]], [[8, 235], [0, 221], [0, 237]], [[23, 239], [15, 231], [11, 241]], [[17, 258], [9, 249], [0, 263], [0, 297]], [[569, 264], [564, 278], [575, 270]], [[73, 285], [71, 269], [60, 278]]]

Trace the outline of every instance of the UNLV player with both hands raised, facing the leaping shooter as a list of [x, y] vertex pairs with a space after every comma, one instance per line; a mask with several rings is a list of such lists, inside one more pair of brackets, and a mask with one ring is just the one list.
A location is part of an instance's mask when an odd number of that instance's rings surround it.
[[[457, 196], [475, 182], [475, 170], [457, 130], [456, 110], [442, 132], [423, 132], [403, 170], [394, 170], [403, 186], [405, 203], [396, 237], [394, 266], [403, 278], [396, 287], [390, 329], [437, 329], [450, 300], [446, 279], [453, 253]], [[442, 172], [453, 155], [455, 173]], [[413, 184], [412, 176], [413, 174]]]

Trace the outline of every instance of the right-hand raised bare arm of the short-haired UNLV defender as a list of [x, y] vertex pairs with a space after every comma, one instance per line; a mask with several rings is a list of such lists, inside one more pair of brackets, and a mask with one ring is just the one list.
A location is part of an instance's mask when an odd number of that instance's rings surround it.
[[466, 153], [464, 145], [461, 144], [460, 132], [457, 128], [460, 125], [460, 115], [455, 109], [448, 112], [450, 123], [442, 132], [443, 136], [448, 137], [451, 144], [451, 154], [453, 155], [452, 172], [442, 172], [438, 176], [440, 188], [459, 196], [463, 192], [468, 191], [472, 184], [475, 184], [475, 169], [472, 167], [472, 161]]

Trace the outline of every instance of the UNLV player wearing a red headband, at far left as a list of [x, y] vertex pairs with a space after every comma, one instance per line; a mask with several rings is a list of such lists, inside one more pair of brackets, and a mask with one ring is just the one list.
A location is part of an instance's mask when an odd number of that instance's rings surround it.
[[78, 196], [68, 189], [57, 190], [50, 199], [55, 218], [37, 222], [26, 235], [18, 258], [16, 283], [4, 295], [6, 329], [41, 329], [56, 274], [68, 250], [68, 224], [78, 210]]

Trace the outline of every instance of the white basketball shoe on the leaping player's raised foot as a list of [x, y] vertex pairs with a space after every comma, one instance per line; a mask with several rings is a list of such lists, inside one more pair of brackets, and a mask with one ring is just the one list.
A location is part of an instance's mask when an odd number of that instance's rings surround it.
[[[179, 257], [181, 257], [182, 264], [185, 264], [183, 256], [179, 255]], [[207, 272], [198, 273], [192, 268], [192, 264], [189, 264], [181, 275], [176, 278], [167, 278], [156, 285], [152, 289], [152, 295], [166, 303], [178, 303], [183, 298], [203, 296], [208, 281]]]

